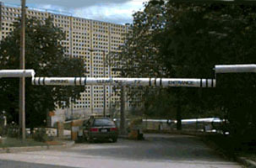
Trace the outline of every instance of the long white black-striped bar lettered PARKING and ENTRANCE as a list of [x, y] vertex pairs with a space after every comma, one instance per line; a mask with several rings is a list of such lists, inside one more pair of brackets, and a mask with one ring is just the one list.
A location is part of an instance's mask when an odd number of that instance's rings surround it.
[[33, 85], [52, 86], [150, 86], [150, 87], [215, 87], [215, 79], [185, 79], [185, 78], [95, 78], [95, 77], [35, 77]]

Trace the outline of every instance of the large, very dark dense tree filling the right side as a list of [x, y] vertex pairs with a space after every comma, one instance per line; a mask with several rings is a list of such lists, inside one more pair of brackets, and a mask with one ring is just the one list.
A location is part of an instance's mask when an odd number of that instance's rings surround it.
[[[248, 64], [255, 62], [255, 6], [228, 3], [170, 3], [170, 13], [176, 17], [158, 34], [159, 50], [166, 67], [172, 66], [175, 76], [213, 76], [217, 64]], [[173, 7], [175, 7], [173, 9]], [[164, 42], [163, 42], [164, 41]], [[169, 69], [169, 68], [168, 68]], [[194, 89], [182, 89], [182, 99], [190, 108], [223, 109], [235, 132], [251, 127], [256, 108], [255, 76], [234, 74], [217, 76], [215, 90], [203, 89], [199, 101]], [[244, 81], [247, 81], [244, 83]], [[253, 117], [254, 115], [254, 117]], [[255, 123], [253, 123], [255, 127]]]

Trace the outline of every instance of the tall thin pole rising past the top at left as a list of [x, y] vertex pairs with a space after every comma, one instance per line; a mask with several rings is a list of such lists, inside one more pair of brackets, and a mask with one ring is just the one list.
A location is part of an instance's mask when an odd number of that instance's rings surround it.
[[[25, 0], [21, 0], [20, 62], [25, 70]], [[19, 135], [25, 139], [25, 77], [19, 78]]]

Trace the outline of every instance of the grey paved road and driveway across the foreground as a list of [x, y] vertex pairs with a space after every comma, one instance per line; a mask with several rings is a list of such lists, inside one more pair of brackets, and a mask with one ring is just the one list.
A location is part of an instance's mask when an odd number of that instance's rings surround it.
[[193, 136], [146, 134], [142, 141], [75, 144], [63, 150], [0, 154], [0, 167], [8, 168], [238, 168], [216, 155]]

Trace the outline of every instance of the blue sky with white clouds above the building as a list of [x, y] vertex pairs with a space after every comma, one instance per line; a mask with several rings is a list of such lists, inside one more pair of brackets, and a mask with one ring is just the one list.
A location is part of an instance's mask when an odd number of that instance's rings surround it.
[[[20, 5], [20, 0], [0, 0]], [[143, 9], [148, 0], [26, 0], [32, 8], [46, 8], [72, 13], [73, 16], [90, 18], [115, 24], [133, 22], [132, 14]]]

